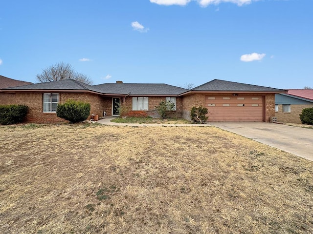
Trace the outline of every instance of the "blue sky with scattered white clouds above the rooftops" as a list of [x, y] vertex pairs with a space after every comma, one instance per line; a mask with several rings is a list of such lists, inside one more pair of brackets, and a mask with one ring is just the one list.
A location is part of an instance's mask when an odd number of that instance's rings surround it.
[[70, 63], [94, 84], [313, 87], [313, 0], [11, 0], [0, 75]]

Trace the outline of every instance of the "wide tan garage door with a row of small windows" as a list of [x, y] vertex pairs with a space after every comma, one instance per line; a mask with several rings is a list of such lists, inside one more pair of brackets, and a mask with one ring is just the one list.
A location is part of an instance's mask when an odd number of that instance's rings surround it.
[[205, 107], [208, 121], [263, 121], [261, 96], [206, 96]]

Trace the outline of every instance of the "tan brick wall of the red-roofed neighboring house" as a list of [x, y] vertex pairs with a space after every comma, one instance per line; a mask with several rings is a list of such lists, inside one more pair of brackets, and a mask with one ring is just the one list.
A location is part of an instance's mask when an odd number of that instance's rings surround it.
[[278, 112], [275, 113], [277, 121], [284, 123], [301, 123], [299, 115], [304, 108], [312, 108], [312, 105], [291, 105], [290, 113], [283, 113], [283, 105], [278, 105]]

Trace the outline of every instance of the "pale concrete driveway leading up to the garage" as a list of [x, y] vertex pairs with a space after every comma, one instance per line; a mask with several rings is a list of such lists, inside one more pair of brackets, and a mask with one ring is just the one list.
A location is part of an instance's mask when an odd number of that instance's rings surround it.
[[313, 129], [265, 122], [209, 124], [313, 161]]

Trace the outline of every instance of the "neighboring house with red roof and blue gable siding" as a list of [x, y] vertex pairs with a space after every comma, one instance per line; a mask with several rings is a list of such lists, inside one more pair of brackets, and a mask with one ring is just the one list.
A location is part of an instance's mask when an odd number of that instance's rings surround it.
[[313, 89], [289, 89], [275, 94], [275, 116], [279, 122], [301, 123], [299, 115], [304, 108], [313, 107]]

